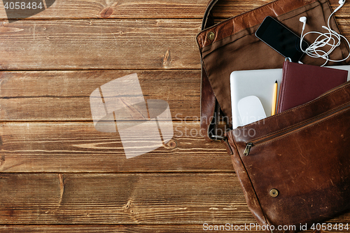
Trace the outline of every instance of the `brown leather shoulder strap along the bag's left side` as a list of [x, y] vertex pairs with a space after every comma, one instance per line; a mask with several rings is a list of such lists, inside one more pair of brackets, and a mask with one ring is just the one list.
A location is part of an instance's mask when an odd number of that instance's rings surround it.
[[[202, 30], [214, 26], [214, 16], [212, 10], [218, 0], [211, 0], [205, 10], [202, 20]], [[201, 61], [202, 62], [202, 61]], [[202, 66], [202, 81], [201, 81], [201, 133], [207, 141], [222, 140], [225, 137], [217, 135], [218, 120], [221, 115], [221, 108], [216, 100], [213, 89], [211, 88], [207, 73]]]

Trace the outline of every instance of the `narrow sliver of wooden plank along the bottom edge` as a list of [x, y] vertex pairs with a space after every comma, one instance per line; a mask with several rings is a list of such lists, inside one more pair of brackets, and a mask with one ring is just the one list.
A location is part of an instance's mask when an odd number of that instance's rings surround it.
[[[251, 223], [255, 225], [256, 223]], [[246, 225], [210, 225], [211, 229], [217, 229], [228, 232], [244, 233], [251, 230], [255, 233], [265, 233], [266, 231], [259, 230], [257, 226]], [[245, 230], [244, 228], [247, 227]], [[250, 229], [251, 227], [251, 229]], [[335, 224], [332, 224], [335, 227]], [[237, 229], [237, 230], [235, 230]], [[241, 230], [239, 230], [241, 229]], [[258, 230], [255, 230], [258, 229]], [[0, 233], [56, 233], [56, 232], [71, 232], [71, 233], [199, 233], [204, 230], [209, 231], [209, 225], [0, 225]], [[302, 231], [302, 233], [314, 232], [312, 230]], [[344, 232], [344, 230], [323, 231], [322, 233]]]

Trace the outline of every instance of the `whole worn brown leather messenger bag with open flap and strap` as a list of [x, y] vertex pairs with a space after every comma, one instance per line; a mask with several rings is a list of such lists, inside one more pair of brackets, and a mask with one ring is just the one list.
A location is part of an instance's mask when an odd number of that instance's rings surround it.
[[[202, 133], [209, 141], [225, 142], [253, 216], [269, 232], [297, 232], [305, 224], [311, 227], [348, 210], [350, 83], [225, 135], [215, 130], [218, 113], [230, 122], [232, 71], [283, 66], [284, 58], [254, 35], [262, 20], [276, 17], [300, 34], [299, 17], [307, 15], [305, 31], [320, 31], [331, 13], [328, 1], [277, 0], [214, 25], [210, 15], [216, 1], [209, 3], [203, 31], [197, 36], [202, 57]], [[331, 27], [339, 32], [334, 18]], [[343, 43], [332, 57], [341, 59], [347, 52]], [[307, 56], [302, 62], [323, 64]], [[349, 60], [342, 64], [346, 63]], [[283, 229], [288, 225], [295, 227]]]

